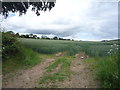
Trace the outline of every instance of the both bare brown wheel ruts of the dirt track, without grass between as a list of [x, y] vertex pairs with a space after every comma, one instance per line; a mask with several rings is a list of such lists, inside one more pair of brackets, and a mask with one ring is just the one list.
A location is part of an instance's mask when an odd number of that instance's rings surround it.
[[[85, 58], [88, 58], [88, 56], [84, 53], [76, 54], [76, 59], [73, 60], [70, 67], [72, 71], [71, 78], [57, 83], [60, 88], [99, 88], [98, 81], [92, 76], [88, 66], [82, 62]], [[38, 80], [46, 73], [45, 68], [52, 64], [54, 60], [52, 58], [46, 59], [41, 64], [23, 70], [19, 75], [4, 80], [3, 88], [34, 88], [39, 86]], [[58, 68], [60, 68], [60, 65], [55, 71]], [[4, 78], [7, 78], [7, 75]]]

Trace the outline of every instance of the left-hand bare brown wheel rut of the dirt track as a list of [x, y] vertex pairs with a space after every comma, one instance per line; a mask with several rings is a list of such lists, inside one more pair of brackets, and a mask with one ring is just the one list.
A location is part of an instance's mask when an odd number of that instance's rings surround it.
[[3, 88], [34, 88], [39, 86], [39, 78], [45, 74], [45, 68], [53, 62], [54, 59], [47, 59], [33, 68], [19, 72], [19, 75], [11, 78], [7, 78], [9, 75], [5, 75], [3, 79], [7, 79], [3, 81]]

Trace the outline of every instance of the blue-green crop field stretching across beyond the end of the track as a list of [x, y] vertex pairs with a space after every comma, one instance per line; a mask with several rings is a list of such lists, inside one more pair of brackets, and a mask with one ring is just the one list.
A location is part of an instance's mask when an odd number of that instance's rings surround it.
[[[27, 47], [43, 54], [54, 54], [66, 51], [68, 55], [85, 52], [93, 57], [108, 56], [118, 51], [118, 42], [90, 42], [90, 41], [58, 41], [40, 39], [20, 39]], [[112, 52], [112, 53], [111, 53]]]

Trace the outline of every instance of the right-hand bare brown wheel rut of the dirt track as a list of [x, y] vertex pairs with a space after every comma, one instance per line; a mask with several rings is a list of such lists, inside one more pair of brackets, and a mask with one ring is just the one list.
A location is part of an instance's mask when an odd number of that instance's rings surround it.
[[82, 61], [88, 58], [84, 53], [76, 54], [71, 65], [71, 78], [59, 83], [60, 88], [99, 88], [99, 83], [91, 73], [88, 65]]

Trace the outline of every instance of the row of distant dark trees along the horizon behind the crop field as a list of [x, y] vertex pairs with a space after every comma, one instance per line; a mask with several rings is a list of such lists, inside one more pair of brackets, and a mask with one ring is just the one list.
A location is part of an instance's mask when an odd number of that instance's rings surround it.
[[[70, 41], [71, 39], [64, 39], [64, 38], [59, 38], [59, 37], [57, 37], [57, 36], [55, 36], [55, 37], [53, 37], [53, 38], [49, 38], [48, 36], [41, 36], [41, 38], [40, 37], [38, 37], [37, 35], [34, 35], [34, 34], [19, 34], [19, 33], [14, 33], [13, 31], [8, 31], [8, 32], [6, 32], [6, 33], [9, 33], [9, 34], [11, 34], [13, 37], [17, 37], [17, 38], [30, 38], [30, 39], [47, 39], [47, 40], [68, 40], [68, 41]], [[74, 41], [73, 39], [72, 39], [72, 41]]]

